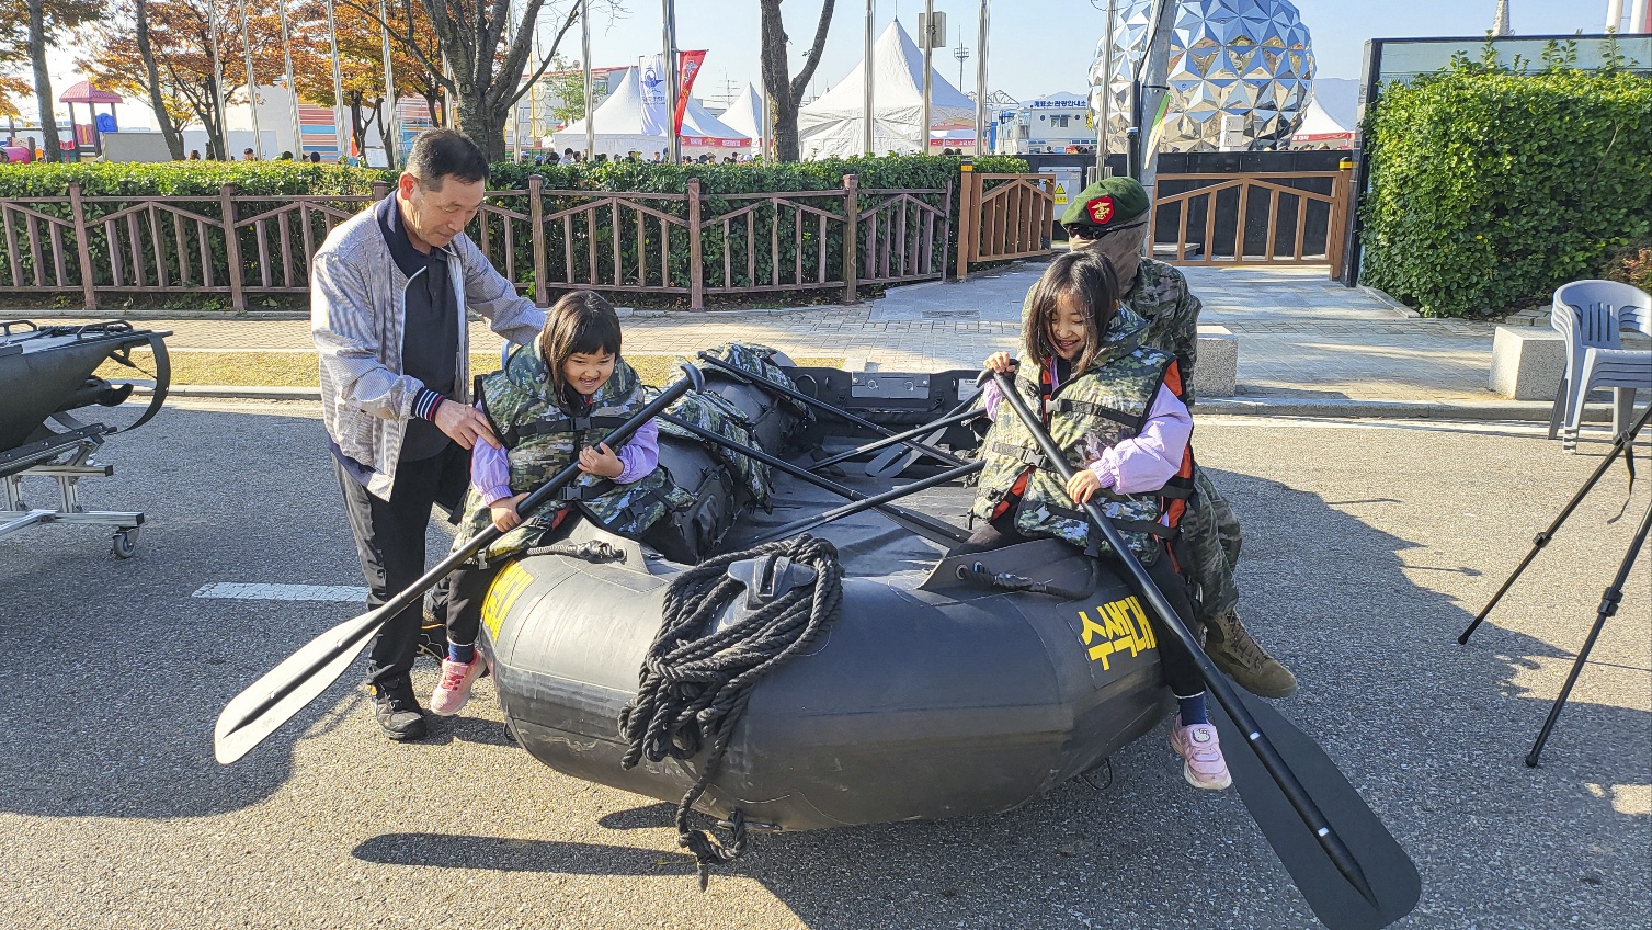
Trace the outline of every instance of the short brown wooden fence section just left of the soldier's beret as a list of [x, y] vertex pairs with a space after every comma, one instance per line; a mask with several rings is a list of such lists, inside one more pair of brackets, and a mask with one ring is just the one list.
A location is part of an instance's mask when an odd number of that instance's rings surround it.
[[958, 205], [958, 281], [970, 264], [1049, 254], [1056, 175], [995, 175], [965, 167]]

